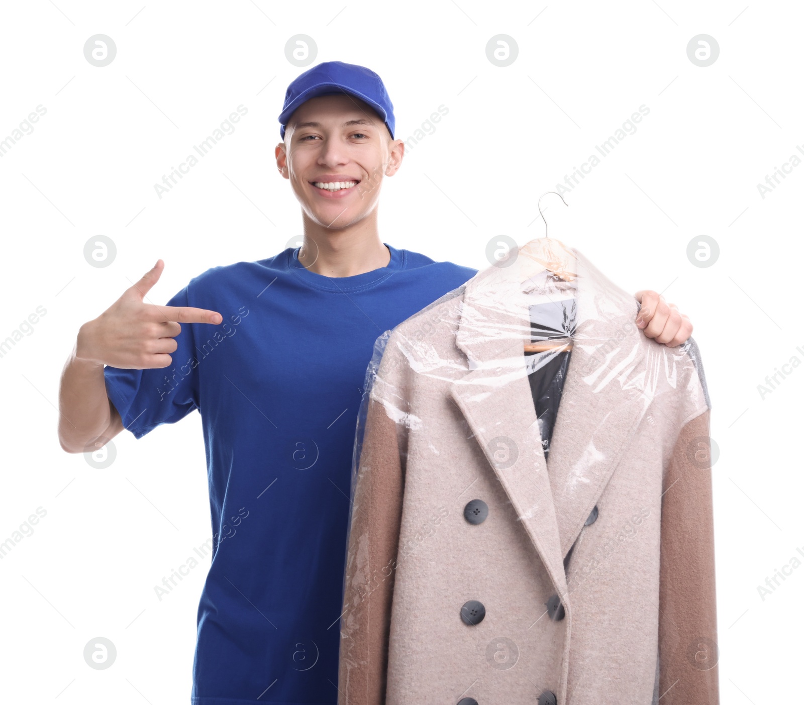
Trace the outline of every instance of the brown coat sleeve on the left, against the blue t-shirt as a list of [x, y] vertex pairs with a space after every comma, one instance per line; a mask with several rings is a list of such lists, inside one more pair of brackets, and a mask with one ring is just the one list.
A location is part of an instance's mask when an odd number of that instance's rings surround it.
[[338, 665], [338, 705], [385, 702], [404, 475], [396, 424], [368, 404], [353, 493]]

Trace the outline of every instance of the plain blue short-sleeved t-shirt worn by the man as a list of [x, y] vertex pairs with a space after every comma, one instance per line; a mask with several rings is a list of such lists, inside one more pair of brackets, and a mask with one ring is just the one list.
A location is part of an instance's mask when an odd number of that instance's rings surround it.
[[375, 339], [477, 270], [388, 245], [355, 277], [304, 268], [298, 248], [213, 267], [168, 305], [218, 311], [182, 324], [170, 367], [105, 368], [142, 438], [199, 409], [213, 539], [198, 612], [193, 705], [330, 705], [355, 422]]

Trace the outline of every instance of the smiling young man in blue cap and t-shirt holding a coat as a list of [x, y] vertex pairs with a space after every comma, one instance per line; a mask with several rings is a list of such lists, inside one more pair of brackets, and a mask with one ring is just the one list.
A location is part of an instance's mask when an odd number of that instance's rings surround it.
[[[302, 247], [207, 269], [164, 306], [144, 302], [158, 260], [81, 326], [61, 381], [68, 453], [201, 412], [214, 553], [195, 705], [336, 702], [367, 363], [379, 334], [476, 272], [380, 240], [380, 186], [404, 143], [374, 72], [318, 64], [290, 84], [279, 121], [277, 168], [301, 203]], [[670, 346], [689, 337], [657, 293], [638, 297], [646, 335]]]

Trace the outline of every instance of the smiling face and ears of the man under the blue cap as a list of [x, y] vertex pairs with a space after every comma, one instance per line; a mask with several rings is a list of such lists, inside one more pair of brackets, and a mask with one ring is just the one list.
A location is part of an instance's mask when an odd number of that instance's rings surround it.
[[306, 216], [340, 230], [375, 210], [383, 178], [396, 173], [404, 144], [392, 140], [370, 105], [340, 94], [302, 103], [275, 154]]

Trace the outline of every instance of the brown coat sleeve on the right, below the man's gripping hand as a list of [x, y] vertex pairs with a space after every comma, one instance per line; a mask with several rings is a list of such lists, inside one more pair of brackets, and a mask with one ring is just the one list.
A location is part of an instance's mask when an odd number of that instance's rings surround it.
[[662, 487], [658, 628], [662, 705], [719, 703], [709, 450], [707, 409], [682, 428]]

